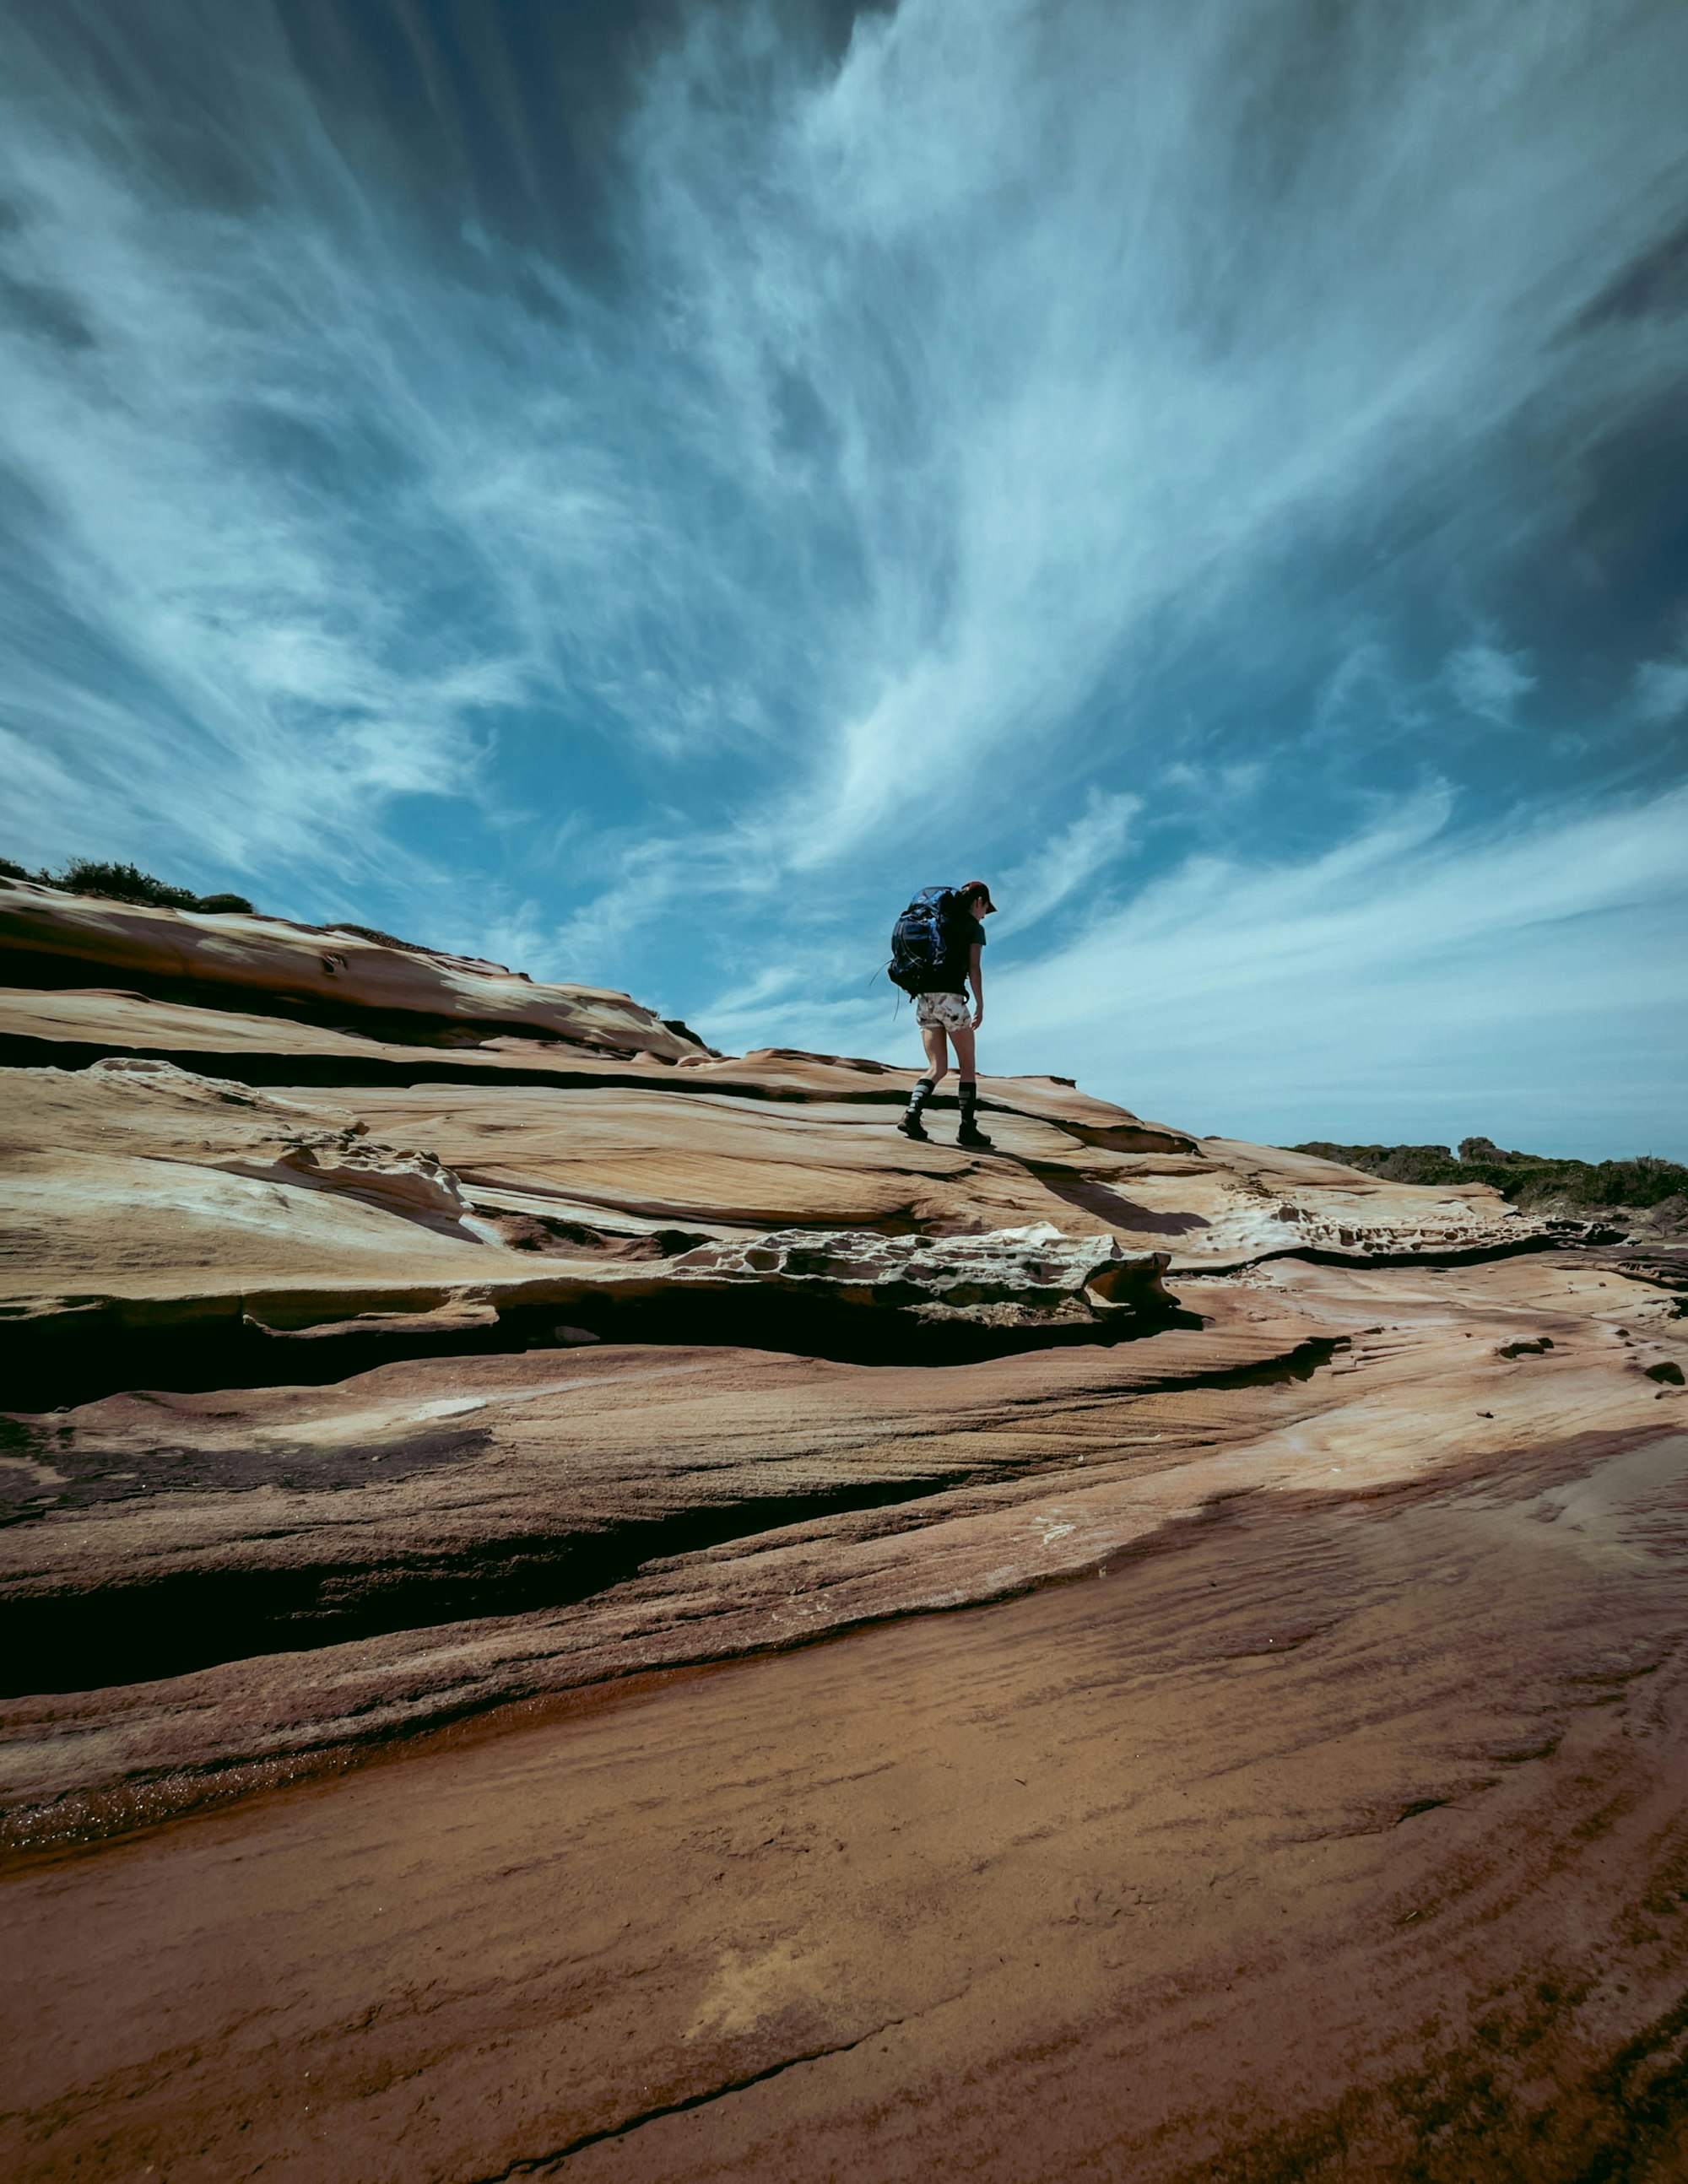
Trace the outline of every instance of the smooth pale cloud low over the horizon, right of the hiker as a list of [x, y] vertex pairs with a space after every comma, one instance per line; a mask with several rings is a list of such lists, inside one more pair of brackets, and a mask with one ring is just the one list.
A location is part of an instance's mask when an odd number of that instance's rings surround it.
[[991, 1066], [1236, 1136], [1424, 1138], [1489, 1101], [1511, 1142], [1686, 1158], [1688, 791], [1448, 817], [1433, 795], [1306, 863], [1186, 863], [998, 970]]

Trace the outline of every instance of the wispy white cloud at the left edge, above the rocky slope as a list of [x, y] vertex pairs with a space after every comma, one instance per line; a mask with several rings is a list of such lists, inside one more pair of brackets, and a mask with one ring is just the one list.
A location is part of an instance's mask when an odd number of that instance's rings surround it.
[[13, 616], [13, 721], [74, 751], [83, 799], [131, 839], [356, 863], [389, 797], [472, 786], [476, 712], [513, 688], [469, 633], [415, 627], [341, 480], [258, 452], [332, 463], [356, 432], [362, 284], [323, 238], [148, 199], [142, 162], [79, 159], [39, 120], [13, 116], [2, 164], [26, 207], [7, 273], [50, 282], [87, 336], [0, 341], [4, 463], [35, 505], [15, 550], [59, 631], [31, 642]]

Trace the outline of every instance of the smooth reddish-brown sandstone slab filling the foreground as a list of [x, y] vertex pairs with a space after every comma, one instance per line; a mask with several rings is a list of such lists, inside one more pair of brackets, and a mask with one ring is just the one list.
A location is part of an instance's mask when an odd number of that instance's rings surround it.
[[[1074, 1396], [1094, 1457], [1112, 1396]], [[1063, 1424], [1083, 1448], [1079, 1402]], [[801, 1642], [836, 1540], [732, 1542], [690, 1588], [653, 1570], [596, 1645], [576, 1627], [581, 1669], [638, 1658], [666, 1603], [673, 1645], [701, 1610], [708, 1671], [528, 1699], [304, 1791], [275, 1787], [321, 1765], [310, 1721], [336, 1704], [413, 1719], [406, 1649], [271, 1655], [282, 1706], [249, 1684], [247, 1719], [299, 1738], [266, 1747], [271, 1795], [173, 1826], [190, 1773], [138, 1767], [129, 1817], [166, 1824], [0, 1883], [9, 2169], [1675, 2175], [1681, 1546], [1660, 1503], [1681, 1452], [1526, 1446], [1352, 1498], [1312, 1474], [1247, 1492], [1247, 1448], [1219, 1452], [1236, 1472], [1194, 1522], [1175, 1472], [1136, 1509], [1118, 1476], [1070, 1492], [1074, 1468], [1013, 1511], [987, 1487], [980, 1562], [994, 1544], [1033, 1588], [1044, 1538], [1050, 1564], [1118, 1551], [985, 1612], [941, 1612], [959, 1514], [863, 1540], [856, 1607], [876, 1546], [893, 1570], [924, 1544], [930, 1612], [845, 1642]], [[518, 1697], [513, 1649], [500, 1675], [485, 1625], [459, 1636], [463, 1697]], [[408, 1651], [430, 1697], [448, 1642]], [[297, 1675], [321, 1704], [286, 1717]], [[231, 1721], [221, 1671], [131, 1697], [66, 1706], [61, 1752], [162, 1752], [146, 1712], [170, 1699], [177, 1752]]]

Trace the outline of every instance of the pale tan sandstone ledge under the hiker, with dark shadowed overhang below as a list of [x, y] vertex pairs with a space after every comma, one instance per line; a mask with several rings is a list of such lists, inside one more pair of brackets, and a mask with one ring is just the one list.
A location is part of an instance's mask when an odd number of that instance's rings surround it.
[[[286, 1055], [321, 1037], [282, 1029]], [[146, 1055], [0, 1070], [0, 1400], [39, 1409], [140, 1374], [177, 1387], [328, 1378], [406, 1345], [546, 1343], [557, 1326], [889, 1356], [887, 1304], [908, 1341], [913, 1321], [924, 1330], [924, 1350], [898, 1354], [943, 1361], [967, 1354], [967, 1330], [972, 1354], [1015, 1326], [1079, 1339], [1114, 1321], [1118, 1334], [1122, 1313], [1175, 1308], [1157, 1269], [1175, 1284], [1271, 1254], [1485, 1256], [1544, 1241], [1483, 1186], [1419, 1190], [1197, 1144], [1053, 1081], [985, 1079], [998, 1151], [976, 1155], [911, 1147], [891, 1127], [911, 1079], [876, 1064], [771, 1055], [683, 1072], [620, 1064], [611, 1081], [574, 1064], [550, 1083], [533, 1075], [509, 1083], [491, 1064], [472, 1083], [330, 1090]], [[1188, 1149], [1107, 1142], [1138, 1138]], [[1020, 1278], [991, 1297], [948, 1295], [935, 1241], [1002, 1262], [1000, 1245], [965, 1238], [1022, 1230], [1120, 1265], [1057, 1282], [1055, 1299]], [[937, 1271], [937, 1286], [821, 1282], [812, 1254], [839, 1236], [858, 1258]], [[747, 1284], [747, 1247], [808, 1251], [808, 1271]], [[325, 1337], [310, 1365], [269, 1343], [310, 1332]]]

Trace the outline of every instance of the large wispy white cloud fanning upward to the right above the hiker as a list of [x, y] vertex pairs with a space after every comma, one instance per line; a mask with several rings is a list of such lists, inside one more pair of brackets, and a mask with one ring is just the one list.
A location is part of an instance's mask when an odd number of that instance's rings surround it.
[[[1467, 478], [1544, 389], [1574, 446], [1679, 369], [1649, 336], [1566, 373], [1677, 216], [1638, 11], [1358, 9], [1336, 48], [1291, 9], [1267, 50], [1240, 7], [904, 0], [821, 81], [725, 22], [635, 162], [718, 459], [771, 529], [823, 489], [852, 548], [782, 804], [799, 869], [913, 841], [956, 778], [1011, 810], [1151, 633]], [[1487, 719], [1529, 688], [1485, 644], [1450, 675]]]

